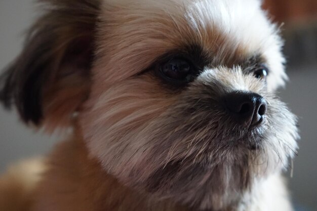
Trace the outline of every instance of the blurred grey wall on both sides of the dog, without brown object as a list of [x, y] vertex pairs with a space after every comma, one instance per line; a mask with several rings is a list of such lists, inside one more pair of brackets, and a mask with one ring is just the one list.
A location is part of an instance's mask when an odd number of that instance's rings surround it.
[[[0, 69], [19, 53], [22, 32], [34, 19], [30, 0], [0, 1]], [[282, 90], [282, 99], [299, 116], [302, 140], [295, 159], [294, 177], [289, 179], [297, 203], [317, 210], [317, 71], [316, 64], [290, 67], [290, 82]], [[56, 142], [26, 129], [15, 113], [0, 108], [0, 172], [18, 159], [46, 153]]]

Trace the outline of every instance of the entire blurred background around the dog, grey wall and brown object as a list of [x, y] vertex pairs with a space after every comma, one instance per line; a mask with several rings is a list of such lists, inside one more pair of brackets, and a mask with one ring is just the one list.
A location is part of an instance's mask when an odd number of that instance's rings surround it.
[[[32, 0], [0, 0], [0, 70], [20, 52], [23, 32], [36, 17]], [[266, 0], [265, 9], [283, 25], [289, 82], [279, 95], [299, 116], [300, 150], [287, 174], [298, 210], [317, 210], [317, 0]], [[27, 129], [15, 112], [0, 107], [0, 174], [19, 159], [49, 152], [58, 136]]]

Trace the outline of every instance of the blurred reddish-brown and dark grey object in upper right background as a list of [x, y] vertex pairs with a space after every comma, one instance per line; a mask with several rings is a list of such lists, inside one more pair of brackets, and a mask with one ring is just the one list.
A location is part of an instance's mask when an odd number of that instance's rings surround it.
[[316, 64], [317, 0], [263, 0], [274, 22], [285, 23], [284, 54], [288, 64]]

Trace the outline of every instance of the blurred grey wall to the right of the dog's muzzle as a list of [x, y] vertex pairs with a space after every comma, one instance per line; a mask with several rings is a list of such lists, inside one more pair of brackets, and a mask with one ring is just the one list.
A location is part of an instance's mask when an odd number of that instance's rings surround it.
[[317, 63], [288, 68], [290, 81], [280, 96], [299, 117], [301, 140], [289, 179], [293, 198], [317, 210]]

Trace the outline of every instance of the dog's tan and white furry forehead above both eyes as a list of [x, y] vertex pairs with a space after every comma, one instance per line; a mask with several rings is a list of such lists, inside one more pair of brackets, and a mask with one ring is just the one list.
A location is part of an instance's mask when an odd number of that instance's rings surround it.
[[109, 71], [111, 80], [195, 45], [219, 64], [259, 55], [274, 67], [271, 86], [283, 84], [281, 40], [258, 0], [106, 0], [100, 20], [98, 53], [107, 59], [97, 66], [114, 62], [110, 66], [121, 72]]

